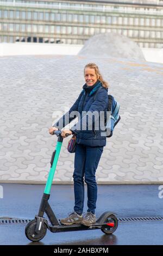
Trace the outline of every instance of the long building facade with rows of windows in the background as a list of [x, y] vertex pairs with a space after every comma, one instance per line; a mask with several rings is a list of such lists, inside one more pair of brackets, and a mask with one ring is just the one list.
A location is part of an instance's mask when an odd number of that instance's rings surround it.
[[163, 1], [0, 1], [0, 42], [81, 44], [114, 32], [163, 47]]

